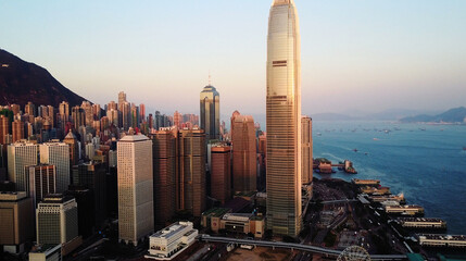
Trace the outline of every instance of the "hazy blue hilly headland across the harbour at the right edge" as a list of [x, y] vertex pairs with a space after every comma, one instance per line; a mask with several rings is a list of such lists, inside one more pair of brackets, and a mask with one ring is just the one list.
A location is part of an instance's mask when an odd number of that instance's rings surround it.
[[400, 120], [402, 123], [417, 123], [417, 122], [431, 122], [431, 123], [466, 123], [466, 108], [459, 107], [450, 109], [437, 115], [420, 114], [417, 116], [403, 117]]

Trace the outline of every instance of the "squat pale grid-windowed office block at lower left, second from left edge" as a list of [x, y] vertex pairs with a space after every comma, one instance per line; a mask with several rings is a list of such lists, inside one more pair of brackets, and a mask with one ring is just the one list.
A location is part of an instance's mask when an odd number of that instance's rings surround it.
[[36, 210], [37, 244], [62, 245], [67, 254], [81, 244], [78, 235], [77, 203], [73, 197], [48, 195]]

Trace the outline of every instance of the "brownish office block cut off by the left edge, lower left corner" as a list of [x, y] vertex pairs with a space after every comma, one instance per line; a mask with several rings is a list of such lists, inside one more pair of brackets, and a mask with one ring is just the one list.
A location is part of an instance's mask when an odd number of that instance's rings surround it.
[[23, 252], [24, 244], [34, 237], [34, 208], [26, 192], [0, 192], [0, 248]]

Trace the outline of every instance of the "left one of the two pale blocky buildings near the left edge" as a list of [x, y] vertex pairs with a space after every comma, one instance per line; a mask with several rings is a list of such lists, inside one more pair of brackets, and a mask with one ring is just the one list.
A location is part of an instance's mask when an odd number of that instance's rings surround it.
[[8, 146], [8, 177], [16, 184], [17, 191], [27, 191], [25, 166], [37, 165], [38, 147], [18, 141]]

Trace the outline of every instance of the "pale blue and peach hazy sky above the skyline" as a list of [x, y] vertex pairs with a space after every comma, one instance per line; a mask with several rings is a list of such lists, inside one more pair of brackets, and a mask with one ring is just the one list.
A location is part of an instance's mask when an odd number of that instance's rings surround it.
[[[0, 0], [0, 48], [92, 102], [265, 113], [272, 0]], [[466, 1], [295, 0], [303, 113], [466, 105]]]

